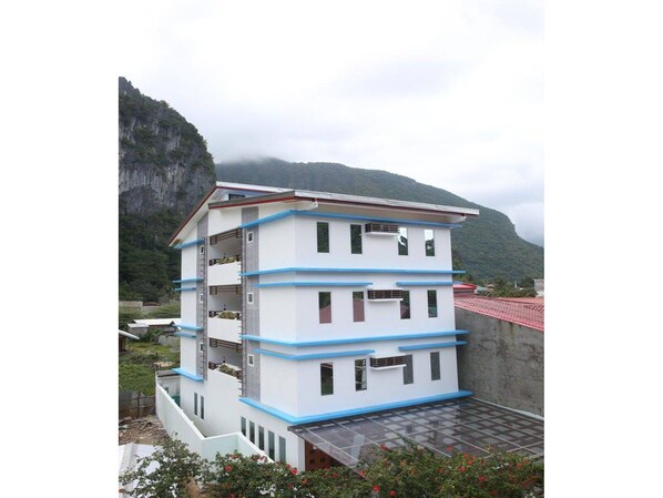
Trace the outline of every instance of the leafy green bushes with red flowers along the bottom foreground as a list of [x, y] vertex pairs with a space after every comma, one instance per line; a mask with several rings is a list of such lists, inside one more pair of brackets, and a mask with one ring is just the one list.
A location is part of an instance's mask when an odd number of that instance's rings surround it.
[[[205, 498], [532, 498], [543, 496], [543, 464], [516, 454], [439, 457], [415, 446], [378, 449], [357, 468], [300, 471], [266, 457], [216, 455], [201, 460], [180, 443], [141, 461], [159, 461], [141, 477], [132, 497], [184, 497], [195, 479]], [[129, 478], [128, 477], [128, 478]]]

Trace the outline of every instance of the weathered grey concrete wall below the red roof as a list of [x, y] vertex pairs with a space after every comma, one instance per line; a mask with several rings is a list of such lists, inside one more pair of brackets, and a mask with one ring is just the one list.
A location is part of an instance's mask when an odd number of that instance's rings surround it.
[[456, 308], [467, 329], [458, 350], [458, 384], [498, 405], [543, 416], [543, 333]]

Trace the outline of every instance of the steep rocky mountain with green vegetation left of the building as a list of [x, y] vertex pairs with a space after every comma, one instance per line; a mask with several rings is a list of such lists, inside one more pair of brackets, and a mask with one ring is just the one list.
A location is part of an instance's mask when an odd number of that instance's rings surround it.
[[119, 80], [120, 299], [157, 301], [180, 275], [167, 240], [215, 182], [196, 128]]

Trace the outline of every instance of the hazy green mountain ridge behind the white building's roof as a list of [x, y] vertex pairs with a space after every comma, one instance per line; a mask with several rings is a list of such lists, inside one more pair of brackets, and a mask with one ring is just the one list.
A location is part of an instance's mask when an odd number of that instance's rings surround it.
[[543, 247], [520, 238], [504, 214], [407, 176], [336, 163], [290, 163], [262, 157], [216, 164], [216, 177], [225, 182], [478, 209], [479, 216], [452, 232], [455, 268], [465, 270], [468, 277], [479, 281], [500, 276], [509, 281], [543, 277]]

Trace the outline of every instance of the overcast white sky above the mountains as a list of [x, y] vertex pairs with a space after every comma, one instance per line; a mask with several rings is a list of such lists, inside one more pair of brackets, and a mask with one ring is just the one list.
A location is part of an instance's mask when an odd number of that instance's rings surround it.
[[215, 162], [386, 170], [543, 245], [543, 1], [134, 2], [121, 74]]

